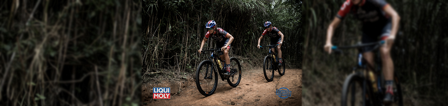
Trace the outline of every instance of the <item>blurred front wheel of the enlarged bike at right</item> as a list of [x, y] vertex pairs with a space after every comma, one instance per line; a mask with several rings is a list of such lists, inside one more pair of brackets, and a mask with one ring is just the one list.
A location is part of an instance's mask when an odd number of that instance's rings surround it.
[[341, 106], [363, 106], [363, 80], [361, 75], [353, 73], [347, 76], [342, 86]]

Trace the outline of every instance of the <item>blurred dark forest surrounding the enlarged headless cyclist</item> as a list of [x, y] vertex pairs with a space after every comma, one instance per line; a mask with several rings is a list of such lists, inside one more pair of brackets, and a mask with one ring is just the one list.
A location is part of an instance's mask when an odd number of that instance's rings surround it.
[[[303, 1], [303, 104], [339, 105], [345, 77], [356, 64], [356, 49], [348, 55], [323, 51], [327, 27], [345, 0]], [[405, 106], [448, 103], [448, 5], [446, 0], [386, 0], [401, 17], [392, 47], [395, 74]], [[348, 15], [336, 28], [334, 45], [361, 41], [362, 23]]]

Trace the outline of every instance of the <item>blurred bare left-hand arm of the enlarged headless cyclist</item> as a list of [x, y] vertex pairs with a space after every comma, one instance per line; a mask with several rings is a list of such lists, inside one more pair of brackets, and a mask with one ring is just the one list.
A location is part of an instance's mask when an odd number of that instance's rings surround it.
[[332, 53], [332, 37], [333, 32], [336, 29], [336, 27], [339, 25], [340, 19], [338, 17], [335, 17], [330, 25], [328, 25], [327, 29], [327, 41], [325, 42], [325, 46], [323, 49], [328, 52], [328, 54]]

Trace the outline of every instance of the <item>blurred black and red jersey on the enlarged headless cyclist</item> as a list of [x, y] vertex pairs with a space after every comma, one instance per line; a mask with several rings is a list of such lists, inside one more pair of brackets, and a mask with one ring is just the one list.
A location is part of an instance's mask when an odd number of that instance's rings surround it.
[[385, 0], [361, 0], [361, 6], [353, 4], [347, 0], [340, 7], [336, 17], [343, 19], [348, 13], [352, 13], [362, 21], [363, 31], [382, 28], [388, 23], [389, 16], [384, 12], [384, 8], [389, 6]]

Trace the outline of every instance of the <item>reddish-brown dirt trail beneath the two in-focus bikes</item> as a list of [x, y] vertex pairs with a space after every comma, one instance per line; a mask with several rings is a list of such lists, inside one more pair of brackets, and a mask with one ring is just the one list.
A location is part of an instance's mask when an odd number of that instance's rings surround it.
[[[219, 77], [215, 93], [203, 96], [189, 78], [178, 83], [159, 83], [142, 85], [143, 106], [301, 106], [302, 69], [286, 69], [285, 75], [274, 73], [274, 81], [267, 82], [263, 69], [243, 71], [240, 84], [233, 88]], [[177, 87], [176, 87], [177, 86]], [[179, 87], [181, 86], [181, 87]], [[153, 87], [172, 87], [171, 99], [152, 99]], [[280, 98], [276, 89], [287, 88], [292, 92], [289, 98]], [[181, 91], [177, 93], [177, 91]], [[285, 90], [285, 89], [281, 89]], [[177, 93], [177, 94], [176, 94]]]

